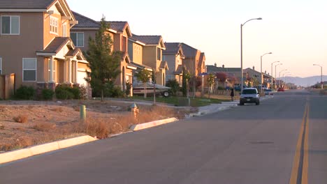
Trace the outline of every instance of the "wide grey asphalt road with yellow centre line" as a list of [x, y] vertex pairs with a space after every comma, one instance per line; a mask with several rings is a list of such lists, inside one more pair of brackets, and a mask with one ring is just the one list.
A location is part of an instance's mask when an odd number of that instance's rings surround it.
[[327, 183], [326, 132], [327, 96], [285, 91], [3, 164], [0, 183]]

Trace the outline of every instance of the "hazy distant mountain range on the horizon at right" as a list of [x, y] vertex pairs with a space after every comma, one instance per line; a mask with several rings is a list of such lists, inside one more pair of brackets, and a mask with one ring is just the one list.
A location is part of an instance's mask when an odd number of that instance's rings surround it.
[[[279, 79], [279, 78], [277, 78]], [[312, 76], [312, 77], [281, 77], [283, 81], [286, 80], [286, 83], [293, 83], [297, 86], [312, 86], [314, 84], [317, 84], [317, 82], [320, 83], [321, 76]], [[327, 75], [323, 75], [323, 81], [327, 81]]]

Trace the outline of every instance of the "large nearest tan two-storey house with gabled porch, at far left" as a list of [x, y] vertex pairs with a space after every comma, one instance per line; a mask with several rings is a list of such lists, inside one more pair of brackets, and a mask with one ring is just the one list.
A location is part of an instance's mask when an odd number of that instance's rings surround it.
[[1, 74], [15, 73], [16, 89], [87, 85], [78, 77], [87, 61], [69, 38], [78, 22], [65, 0], [1, 0], [0, 22]]

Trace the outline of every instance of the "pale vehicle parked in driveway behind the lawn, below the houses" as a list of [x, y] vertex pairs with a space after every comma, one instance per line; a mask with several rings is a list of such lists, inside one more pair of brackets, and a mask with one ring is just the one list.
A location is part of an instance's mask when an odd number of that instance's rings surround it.
[[[162, 86], [159, 84], [156, 85], [156, 94], [163, 95], [164, 97], [169, 96], [169, 89], [170, 87], [167, 86]], [[154, 93], [154, 84], [147, 82], [147, 87], [146, 87], [146, 93], [147, 95], [153, 95]], [[143, 95], [144, 94], [144, 84], [136, 84], [135, 86], [133, 85], [133, 94], [134, 95]]]

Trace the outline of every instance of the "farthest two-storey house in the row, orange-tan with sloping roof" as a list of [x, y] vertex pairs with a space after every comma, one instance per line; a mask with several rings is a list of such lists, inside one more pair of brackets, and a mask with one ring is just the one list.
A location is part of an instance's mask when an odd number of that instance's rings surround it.
[[185, 55], [183, 66], [186, 66], [191, 76], [198, 77], [199, 74], [205, 72], [205, 54], [194, 47], [185, 43], [180, 43]]

